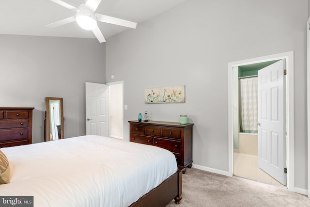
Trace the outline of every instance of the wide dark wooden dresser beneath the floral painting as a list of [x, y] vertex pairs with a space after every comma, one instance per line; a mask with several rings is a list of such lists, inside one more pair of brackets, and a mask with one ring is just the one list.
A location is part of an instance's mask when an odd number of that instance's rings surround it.
[[[171, 151], [180, 167], [193, 163], [193, 125], [161, 121], [128, 121], [130, 142], [150, 144]], [[183, 173], [185, 173], [185, 169]]]

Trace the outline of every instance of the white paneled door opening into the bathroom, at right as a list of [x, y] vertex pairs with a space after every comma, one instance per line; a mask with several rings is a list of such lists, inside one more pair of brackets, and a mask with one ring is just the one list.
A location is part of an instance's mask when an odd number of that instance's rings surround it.
[[258, 166], [286, 185], [285, 59], [258, 71]]

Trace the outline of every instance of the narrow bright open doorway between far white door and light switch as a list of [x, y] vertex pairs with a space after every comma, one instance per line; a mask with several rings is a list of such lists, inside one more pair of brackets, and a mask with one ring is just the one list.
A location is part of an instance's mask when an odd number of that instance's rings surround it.
[[110, 82], [109, 85], [109, 137], [124, 139], [123, 91], [124, 82]]

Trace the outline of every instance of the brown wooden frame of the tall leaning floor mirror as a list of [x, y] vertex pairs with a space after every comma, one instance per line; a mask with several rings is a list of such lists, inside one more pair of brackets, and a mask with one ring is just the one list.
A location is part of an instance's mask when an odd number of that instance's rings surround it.
[[64, 127], [63, 127], [63, 98], [55, 98], [55, 97], [45, 97], [45, 106], [46, 106], [46, 110], [45, 110], [45, 124], [44, 124], [44, 142], [47, 142], [47, 141], [51, 141], [50, 140], [50, 123], [49, 123], [49, 112], [50, 112], [50, 109], [49, 109], [49, 101], [50, 100], [59, 100], [60, 101], [60, 124], [61, 124], [61, 139], [64, 139]]

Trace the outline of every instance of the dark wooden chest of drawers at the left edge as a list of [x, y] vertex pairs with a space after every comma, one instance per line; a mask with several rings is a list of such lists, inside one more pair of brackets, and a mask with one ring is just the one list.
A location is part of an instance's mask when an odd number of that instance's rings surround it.
[[0, 148], [32, 143], [33, 109], [0, 107]]

